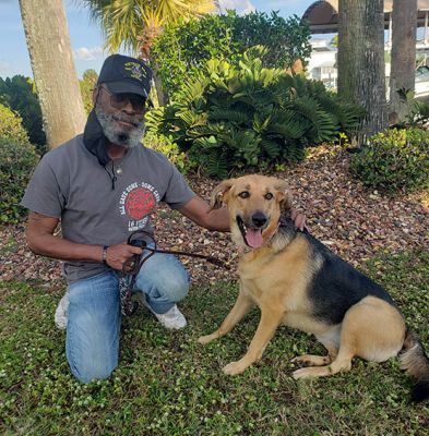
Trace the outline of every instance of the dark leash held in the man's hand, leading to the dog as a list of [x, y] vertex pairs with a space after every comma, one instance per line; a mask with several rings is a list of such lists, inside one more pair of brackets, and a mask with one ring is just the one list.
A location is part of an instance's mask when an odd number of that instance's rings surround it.
[[[147, 240], [150, 242], [147, 242]], [[203, 258], [210, 262], [213, 265], [218, 267], [227, 268], [226, 264], [213, 256], [205, 256], [203, 254], [182, 252], [176, 250], [160, 250], [157, 249], [156, 241], [154, 237], [144, 231], [138, 230], [130, 234], [127, 243], [129, 245], [139, 246], [143, 250], [142, 254], [134, 254], [128, 262], [126, 262], [122, 266], [122, 271], [119, 278], [119, 294], [121, 302], [121, 313], [122, 315], [131, 315], [136, 308], [136, 304], [131, 301], [132, 291], [134, 289], [135, 279], [142, 268], [143, 264], [152, 257], [155, 253], [165, 253], [165, 254], [175, 254], [178, 256], [190, 256]], [[154, 246], [148, 246], [148, 244], [153, 244]], [[145, 251], [148, 254], [145, 255]]]

